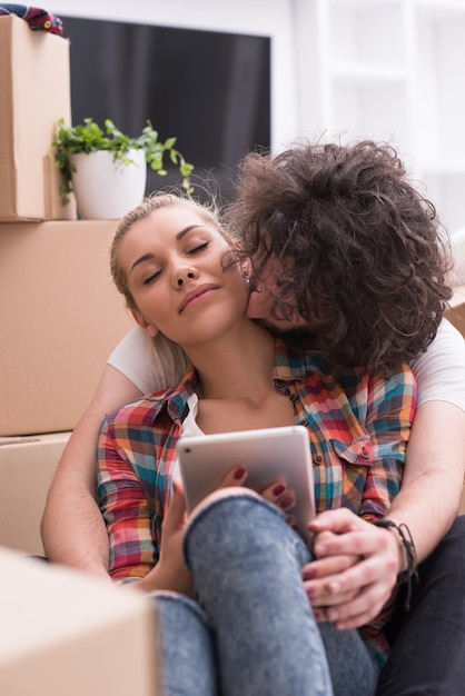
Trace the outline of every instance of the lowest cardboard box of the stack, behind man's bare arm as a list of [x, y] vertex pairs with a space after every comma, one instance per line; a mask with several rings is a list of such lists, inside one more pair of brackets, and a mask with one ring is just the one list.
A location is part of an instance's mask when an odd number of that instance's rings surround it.
[[40, 521], [70, 435], [0, 438], [0, 546], [43, 556]]

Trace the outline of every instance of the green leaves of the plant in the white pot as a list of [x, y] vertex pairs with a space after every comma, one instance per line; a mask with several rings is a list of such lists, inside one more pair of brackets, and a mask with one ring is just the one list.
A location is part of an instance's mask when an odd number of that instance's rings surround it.
[[68, 195], [72, 192], [72, 172], [76, 169], [71, 165], [71, 155], [98, 150], [112, 152], [113, 160], [122, 165], [131, 162], [129, 156], [131, 149], [144, 150], [147, 165], [160, 176], [167, 173], [165, 159], [168, 156], [179, 169], [182, 188], [191, 192], [190, 175], [194, 166], [186, 162], [179, 150], [175, 149], [175, 145], [176, 138], [160, 141], [150, 121], [147, 121], [140, 136], [130, 138], [125, 136], [110, 119], [105, 121], [105, 131], [91, 118], [83, 119], [83, 123], [78, 126], [67, 126], [65, 119], [60, 119], [57, 123], [57, 137], [52, 142], [52, 151], [57, 167], [63, 175], [63, 185], [60, 188], [62, 202], [69, 202]]

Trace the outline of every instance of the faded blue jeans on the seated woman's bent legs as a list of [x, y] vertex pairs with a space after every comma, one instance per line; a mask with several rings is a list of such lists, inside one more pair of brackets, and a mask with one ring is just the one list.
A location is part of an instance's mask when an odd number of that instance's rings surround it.
[[310, 559], [278, 508], [248, 491], [190, 523], [197, 601], [155, 595], [165, 696], [373, 696], [378, 668], [357, 632], [323, 630], [304, 591]]

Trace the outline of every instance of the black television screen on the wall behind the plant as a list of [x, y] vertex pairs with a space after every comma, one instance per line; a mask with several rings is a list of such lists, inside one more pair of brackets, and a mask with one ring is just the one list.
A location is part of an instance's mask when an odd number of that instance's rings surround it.
[[[61, 16], [60, 16], [61, 17]], [[147, 120], [228, 200], [236, 166], [270, 146], [270, 39], [61, 17], [70, 39], [72, 122], [110, 118], [137, 136]], [[147, 192], [179, 183], [149, 170]]]

